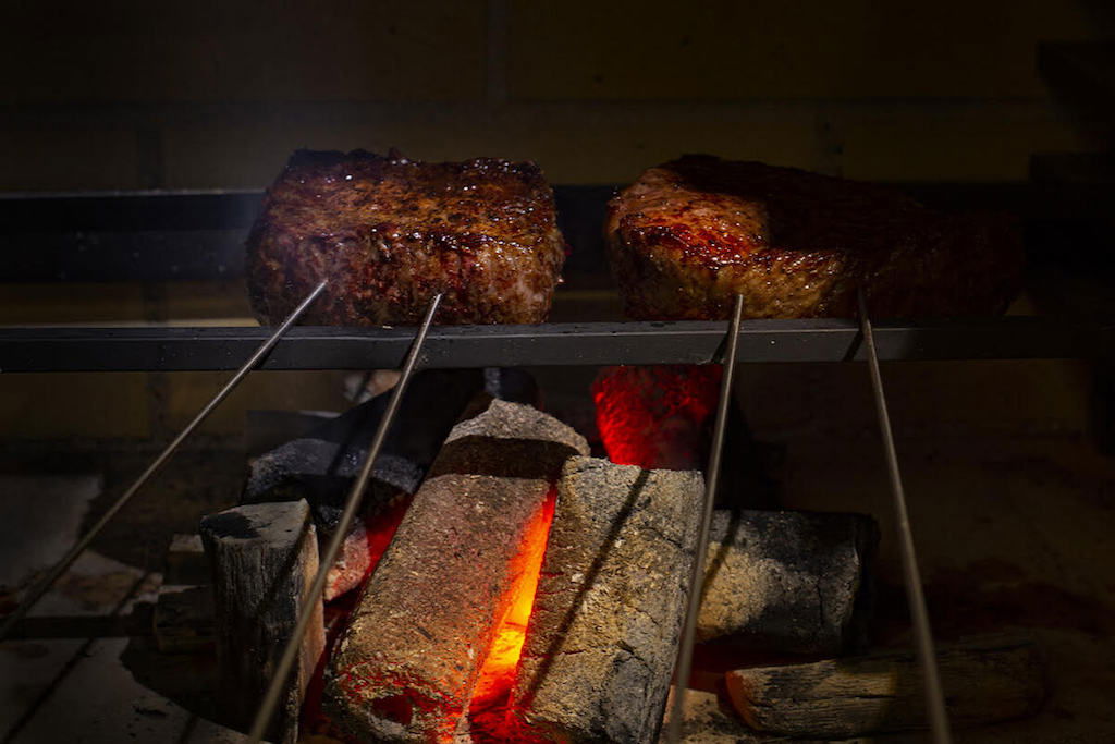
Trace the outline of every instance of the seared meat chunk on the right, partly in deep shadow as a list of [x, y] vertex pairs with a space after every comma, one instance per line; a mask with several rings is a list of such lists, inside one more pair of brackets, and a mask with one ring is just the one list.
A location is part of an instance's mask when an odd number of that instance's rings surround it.
[[1021, 242], [1001, 218], [951, 215], [883, 187], [688, 155], [650, 168], [609, 205], [612, 269], [641, 319], [1001, 312]]

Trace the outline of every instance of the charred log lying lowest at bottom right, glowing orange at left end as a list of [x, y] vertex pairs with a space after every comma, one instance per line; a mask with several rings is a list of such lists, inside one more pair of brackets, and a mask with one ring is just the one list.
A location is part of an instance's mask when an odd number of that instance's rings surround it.
[[[972, 726], [1036, 713], [1044, 661], [1030, 640], [988, 637], [938, 653], [949, 718]], [[727, 675], [733, 705], [752, 728], [786, 736], [860, 736], [924, 728], [913, 654], [875, 654]]]

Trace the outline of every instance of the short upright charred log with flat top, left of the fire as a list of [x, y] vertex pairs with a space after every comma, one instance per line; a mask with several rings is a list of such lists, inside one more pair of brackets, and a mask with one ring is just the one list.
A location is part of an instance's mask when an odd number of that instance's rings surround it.
[[227, 723], [246, 729], [303, 602], [318, 611], [288, 683], [271, 741], [294, 742], [302, 695], [324, 648], [321, 599], [306, 591], [318, 571], [318, 541], [304, 501], [248, 504], [202, 520], [213, 571], [220, 703]]

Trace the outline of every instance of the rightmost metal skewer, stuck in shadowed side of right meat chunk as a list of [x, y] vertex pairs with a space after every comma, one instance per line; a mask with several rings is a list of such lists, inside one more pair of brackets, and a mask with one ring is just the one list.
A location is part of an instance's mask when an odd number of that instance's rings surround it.
[[899, 549], [902, 553], [902, 573], [905, 579], [906, 601], [910, 605], [910, 617], [917, 638], [918, 661], [921, 664], [925, 683], [925, 712], [929, 715], [930, 732], [934, 744], [950, 744], [952, 733], [949, 727], [949, 715], [944, 707], [944, 692], [941, 688], [941, 675], [937, 668], [937, 651], [933, 648], [933, 632], [929, 625], [929, 611], [925, 609], [925, 595], [921, 586], [921, 573], [918, 570], [918, 554], [913, 545], [913, 531], [910, 529], [910, 514], [906, 510], [905, 490], [902, 487], [902, 473], [899, 471], [899, 456], [894, 448], [894, 434], [891, 431], [891, 416], [886, 410], [886, 395], [883, 392], [883, 377], [879, 371], [879, 355], [875, 351], [875, 337], [867, 316], [867, 301], [863, 288], [859, 291], [860, 329], [867, 347], [867, 368], [871, 370], [871, 387], [875, 394], [875, 409], [879, 412], [879, 427], [883, 434], [883, 451], [886, 454], [886, 470], [891, 477], [891, 494], [894, 496], [894, 513], [898, 518]]

